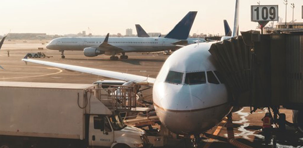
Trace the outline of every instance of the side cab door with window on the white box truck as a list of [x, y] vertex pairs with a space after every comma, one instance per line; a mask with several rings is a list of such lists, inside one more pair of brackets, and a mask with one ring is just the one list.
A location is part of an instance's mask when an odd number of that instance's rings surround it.
[[114, 130], [106, 116], [91, 116], [89, 127], [90, 146], [111, 146], [114, 142]]

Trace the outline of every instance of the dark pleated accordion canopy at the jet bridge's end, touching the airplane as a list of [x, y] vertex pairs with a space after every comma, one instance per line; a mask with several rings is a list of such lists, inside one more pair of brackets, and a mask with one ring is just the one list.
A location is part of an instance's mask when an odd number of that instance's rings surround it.
[[[249, 97], [239, 99], [251, 92], [251, 52], [242, 36], [211, 45], [209, 52], [217, 60], [219, 71], [232, 92], [233, 102], [249, 104]], [[247, 95], [248, 96], [248, 95]]]

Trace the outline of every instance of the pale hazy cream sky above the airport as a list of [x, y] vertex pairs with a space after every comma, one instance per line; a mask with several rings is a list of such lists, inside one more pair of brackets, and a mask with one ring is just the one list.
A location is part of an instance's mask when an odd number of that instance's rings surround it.
[[[279, 16], [285, 21], [283, 0], [260, 1], [261, 5], [279, 5]], [[250, 5], [257, 2], [240, 0], [240, 30], [258, 25], [250, 21]], [[294, 18], [303, 22], [303, 0], [288, 1], [287, 21], [292, 19], [290, 3], [295, 3]], [[223, 19], [232, 26], [234, 9], [235, 0], [3, 0], [0, 35], [10, 31], [63, 35], [82, 30], [93, 35], [123, 35], [126, 28], [136, 34], [136, 23], [146, 32], [166, 34], [188, 11], [198, 11], [190, 34], [223, 34]]]

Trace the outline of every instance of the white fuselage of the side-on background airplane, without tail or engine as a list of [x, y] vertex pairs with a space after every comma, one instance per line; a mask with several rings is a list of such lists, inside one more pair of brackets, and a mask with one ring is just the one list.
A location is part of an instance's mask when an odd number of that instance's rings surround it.
[[[98, 47], [105, 37], [60, 37], [53, 39], [47, 49], [51, 50], [80, 50], [87, 47]], [[121, 48], [120, 52], [155, 52], [179, 48], [171, 44], [178, 39], [161, 37], [110, 37], [108, 44]]]

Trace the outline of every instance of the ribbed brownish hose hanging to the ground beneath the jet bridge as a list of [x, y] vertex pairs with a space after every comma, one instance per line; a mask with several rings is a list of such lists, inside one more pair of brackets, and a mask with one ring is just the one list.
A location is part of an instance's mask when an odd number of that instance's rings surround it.
[[231, 113], [229, 113], [227, 115], [228, 119], [227, 119], [227, 123], [226, 123], [226, 128], [227, 128], [227, 136], [228, 136], [228, 142], [233, 145], [236, 146], [238, 148], [252, 148], [251, 146], [248, 146], [244, 143], [241, 143], [239, 141], [237, 141], [235, 139], [235, 135], [234, 135], [234, 128], [233, 128], [233, 124], [232, 124], [232, 118], [231, 118]]

